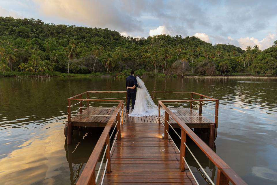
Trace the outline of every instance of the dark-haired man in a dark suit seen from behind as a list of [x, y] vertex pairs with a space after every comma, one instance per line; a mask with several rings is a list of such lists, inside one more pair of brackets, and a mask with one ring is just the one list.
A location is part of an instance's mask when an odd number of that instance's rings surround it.
[[[136, 82], [136, 77], [134, 77], [134, 70], [131, 70], [130, 76], [126, 78], [126, 88], [133, 87], [134, 85], [138, 87], [138, 83]], [[129, 113], [130, 109], [130, 100], [132, 99], [132, 109], [134, 110], [135, 101], [136, 101], [136, 88], [127, 89], [127, 113]]]

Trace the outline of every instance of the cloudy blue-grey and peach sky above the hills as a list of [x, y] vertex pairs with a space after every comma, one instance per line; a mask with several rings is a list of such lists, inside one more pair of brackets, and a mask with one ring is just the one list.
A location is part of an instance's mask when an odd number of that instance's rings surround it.
[[100, 27], [123, 36], [196, 36], [242, 49], [277, 40], [276, 0], [0, 0], [0, 16]]

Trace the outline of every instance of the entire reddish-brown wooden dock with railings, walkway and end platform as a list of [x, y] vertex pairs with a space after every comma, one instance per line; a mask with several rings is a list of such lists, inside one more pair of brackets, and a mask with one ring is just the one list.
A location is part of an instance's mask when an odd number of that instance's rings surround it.
[[[95, 98], [90, 97], [89, 93], [98, 92], [87, 91], [68, 99], [68, 122], [64, 130], [67, 144], [71, 144], [75, 127], [104, 127], [77, 185], [197, 184], [197, 179], [185, 160], [187, 152], [193, 156], [192, 151], [186, 145], [186, 137], [190, 137], [218, 168], [214, 184], [227, 185], [229, 182], [246, 184], [210, 148], [214, 147], [215, 131], [218, 127], [218, 99], [196, 92], [181, 92], [189, 93], [190, 98], [159, 100], [158, 116], [132, 117], [128, 116], [123, 100], [116, 98], [89, 99]], [[84, 98], [83, 95], [87, 95], [87, 97]], [[200, 98], [193, 99], [193, 95]], [[72, 105], [71, 101], [79, 103]], [[87, 102], [87, 104], [83, 105], [83, 102]], [[117, 106], [92, 107], [89, 102], [109, 102], [109, 104], [117, 104]], [[190, 106], [187, 108], [167, 107], [164, 104], [171, 102], [189, 103]], [[208, 105], [206, 104], [208, 102], [215, 102], [214, 115], [209, 113], [212, 115], [210, 117], [214, 117], [214, 121], [202, 115], [203, 106]], [[195, 108], [196, 103], [199, 103], [198, 108]], [[78, 108], [78, 112], [71, 111], [71, 108]], [[181, 135], [175, 132], [180, 138], [180, 148], [169, 135], [170, 127], [173, 131], [174, 128], [181, 129]], [[191, 128], [209, 130], [209, 146]], [[164, 134], [164, 138], [162, 138], [162, 134]], [[196, 158], [194, 159], [198, 162]], [[99, 163], [100, 167], [97, 170], [96, 166]], [[200, 163], [198, 162], [198, 164]], [[100, 170], [103, 169], [102, 165], [105, 166], [104, 171]], [[202, 166], [200, 167], [202, 168]], [[203, 168], [202, 172], [205, 174], [207, 182], [213, 184], [213, 180]]]

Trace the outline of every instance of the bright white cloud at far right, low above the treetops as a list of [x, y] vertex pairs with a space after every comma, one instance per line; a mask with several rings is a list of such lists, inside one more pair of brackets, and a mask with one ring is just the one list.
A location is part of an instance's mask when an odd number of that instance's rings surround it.
[[261, 50], [264, 50], [268, 47], [272, 46], [272, 42], [276, 40], [276, 35], [275, 34], [268, 34], [265, 38], [262, 40], [259, 40], [254, 37], [244, 37], [244, 38], [239, 38], [237, 41], [239, 42], [239, 47], [242, 49], [245, 49], [247, 46], [254, 46], [258, 45]]

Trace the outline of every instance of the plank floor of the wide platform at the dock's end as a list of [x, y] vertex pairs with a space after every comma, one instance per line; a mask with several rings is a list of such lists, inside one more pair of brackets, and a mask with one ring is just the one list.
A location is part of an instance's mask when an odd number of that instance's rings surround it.
[[[174, 109], [174, 108], [169, 108]], [[198, 112], [186, 108], [175, 108], [177, 112], [174, 112], [176, 116], [179, 117], [184, 123], [186, 123], [190, 128], [209, 128], [210, 124], [214, 123], [207, 119], [206, 117], [199, 117]], [[105, 127], [106, 123], [111, 116], [92, 116], [92, 115], [112, 115], [115, 108], [112, 107], [97, 107], [87, 108], [83, 110], [83, 114], [74, 116], [71, 122], [74, 126], [89, 126], [89, 127]], [[130, 111], [131, 113], [131, 111]], [[164, 117], [161, 116], [161, 120], [164, 123]], [[124, 107], [123, 113], [123, 123], [158, 123], [158, 116], [144, 116], [144, 117], [132, 117], [128, 116], [126, 112], [126, 107]], [[172, 126], [177, 126], [176, 122], [170, 117], [169, 123]]]

